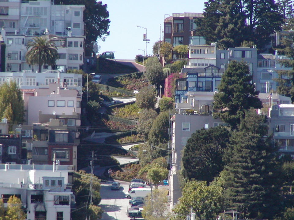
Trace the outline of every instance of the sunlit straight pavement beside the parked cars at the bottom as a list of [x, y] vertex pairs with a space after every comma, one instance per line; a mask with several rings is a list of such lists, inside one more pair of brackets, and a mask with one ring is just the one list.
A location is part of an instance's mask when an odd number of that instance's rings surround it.
[[102, 200], [100, 206], [104, 210], [102, 214], [103, 220], [130, 220], [126, 215], [126, 209], [130, 206], [129, 199], [125, 198], [125, 193], [129, 189], [129, 183], [120, 183], [120, 190], [111, 190], [109, 184], [101, 184], [100, 195]]

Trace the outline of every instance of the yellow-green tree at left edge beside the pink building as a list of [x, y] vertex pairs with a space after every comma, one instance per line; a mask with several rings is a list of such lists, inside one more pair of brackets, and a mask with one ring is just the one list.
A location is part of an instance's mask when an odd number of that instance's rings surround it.
[[24, 101], [16, 82], [5, 82], [0, 86], [0, 117], [7, 118], [10, 124], [24, 121]]

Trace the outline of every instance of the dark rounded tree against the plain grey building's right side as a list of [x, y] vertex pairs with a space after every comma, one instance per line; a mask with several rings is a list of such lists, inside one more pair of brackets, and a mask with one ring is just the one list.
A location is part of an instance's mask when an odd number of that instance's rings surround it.
[[228, 129], [221, 126], [193, 133], [184, 148], [183, 175], [189, 180], [213, 181], [223, 170], [223, 154], [229, 136]]

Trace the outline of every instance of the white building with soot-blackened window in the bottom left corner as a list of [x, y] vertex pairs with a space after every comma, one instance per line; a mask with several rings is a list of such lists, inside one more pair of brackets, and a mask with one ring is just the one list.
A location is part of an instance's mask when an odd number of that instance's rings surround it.
[[73, 167], [67, 165], [0, 164], [0, 194], [21, 199], [27, 219], [70, 220], [75, 204], [71, 192]]

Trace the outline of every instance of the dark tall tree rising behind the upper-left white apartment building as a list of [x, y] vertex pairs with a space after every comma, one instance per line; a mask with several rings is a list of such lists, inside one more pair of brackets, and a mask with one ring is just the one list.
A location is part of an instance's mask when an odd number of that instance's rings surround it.
[[55, 0], [56, 5], [85, 5], [84, 22], [85, 22], [85, 54], [91, 56], [93, 46], [98, 39], [102, 41], [109, 35], [110, 20], [107, 4], [95, 0]]

